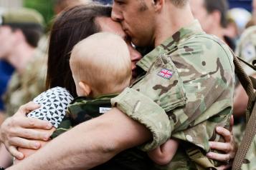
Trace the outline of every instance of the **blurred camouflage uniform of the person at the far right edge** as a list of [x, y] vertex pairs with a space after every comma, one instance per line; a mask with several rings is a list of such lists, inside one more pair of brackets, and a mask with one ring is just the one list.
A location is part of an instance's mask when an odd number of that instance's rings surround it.
[[[245, 32], [242, 34], [240, 43], [237, 46], [237, 55], [240, 56], [242, 59], [247, 61], [248, 63], [252, 64], [252, 61], [256, 59], [256, 26], [251, 26], [250, 28], [246, 29]], [[243, 69], [247, 75], [254, 75], [255, 71], [251, 69], [249, 66], [242, 64]], [[237, 136], [236, 139], [238, 141], [242, 141], [242, 134], [245, 131], [245, 124], [240, 125], [242, 129], [234, 129], [234, 134]], [[237, 130], [237, 131], [236, 131]], [[242, 164], [242, 170], [252, 170], [256, 169], [256, 136], [252, 141], [249, 151], [245, 157], [245, 161]]]

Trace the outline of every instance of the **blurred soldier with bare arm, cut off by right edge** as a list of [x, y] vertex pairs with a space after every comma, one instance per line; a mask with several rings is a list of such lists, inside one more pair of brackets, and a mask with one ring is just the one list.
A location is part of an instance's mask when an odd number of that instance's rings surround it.
[[[246, 29], [237, 45], [237, 56], [240, 56], [243, 60], [247, 61], [247, 63], [252, 64], [252, 61], [256, 59], [256, 26], [250, 26]], [[242, 63], [242, 67], [245, 70], [245, 73], [248, 76], [256, 77], [256, 72], [247, 66], [246, 64]], [[245, 110], [247, 106], [248, 96], [243, 89], [242, 85], [239, 84], [235, 91], [234, 96], [234, 116], [237, 118], [245, 117]], [[237, 141], [238, 144], [242, 141], [243, 134], [245, 132], [246, 124], [245, 120], [241, 121], [240, 124], [234, 126], [234, 139]], [[245, 161], [242, 164], [242, 170], [250, 170], [255, 168], [255, 151], [256, 151], [256, 139], [253, 139], [252, 144], [250, 145], [250, 149], [247, 152]]]

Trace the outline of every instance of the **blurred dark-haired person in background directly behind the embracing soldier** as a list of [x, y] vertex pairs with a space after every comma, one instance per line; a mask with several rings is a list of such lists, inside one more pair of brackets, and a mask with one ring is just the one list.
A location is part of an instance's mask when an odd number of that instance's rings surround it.
[[190, 0], [191, 11], [199, 20], [202, 29], [207, 34], [218, 36], [234, 50], [235, 44], [232, 39], [225, 35], [227, 26], [227, 10], [229, 4], [227, 0]]

